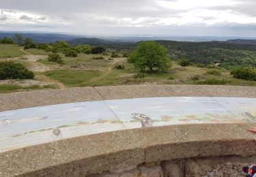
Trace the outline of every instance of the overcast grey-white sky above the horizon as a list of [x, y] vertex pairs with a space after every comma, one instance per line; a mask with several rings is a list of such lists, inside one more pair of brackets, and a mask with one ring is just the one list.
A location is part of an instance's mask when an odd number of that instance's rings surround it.
[[0, 0], [0, 31], [256, 37], [256, 0]]

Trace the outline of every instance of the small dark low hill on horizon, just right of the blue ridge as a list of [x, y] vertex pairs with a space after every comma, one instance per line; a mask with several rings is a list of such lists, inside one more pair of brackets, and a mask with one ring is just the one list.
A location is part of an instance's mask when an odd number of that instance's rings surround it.
[[115, 44], [117, 42], [115, 41], [110, 41], [110, 40], [104, 40], [104, 39], [98, 39], [98, 38], [79, 38], [79, 39], [72, 39], [67, 41], [71, 45], [76, 45], [76, 44]]

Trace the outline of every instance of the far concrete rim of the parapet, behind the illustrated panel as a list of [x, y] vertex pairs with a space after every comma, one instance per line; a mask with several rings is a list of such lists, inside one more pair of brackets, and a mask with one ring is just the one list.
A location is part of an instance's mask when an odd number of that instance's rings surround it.
[[256, 97], [256, 87], [141, 84], [98, 86], [0, 95], [0, 111], [58, 103], [135, 97]]

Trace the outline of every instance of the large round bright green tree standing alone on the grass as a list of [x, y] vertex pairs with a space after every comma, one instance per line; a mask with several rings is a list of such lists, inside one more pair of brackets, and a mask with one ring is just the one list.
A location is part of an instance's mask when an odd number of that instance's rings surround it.
[[141, 42], [128, 57], [140, 71], [167, 71], [171, 60], [167, 57], [167, 49], [157, 42]]

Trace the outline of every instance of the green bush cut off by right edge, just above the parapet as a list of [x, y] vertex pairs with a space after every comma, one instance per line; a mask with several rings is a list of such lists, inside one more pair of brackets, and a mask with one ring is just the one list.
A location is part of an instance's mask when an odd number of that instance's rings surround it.
[[238, 67], [230, 72], [233, 78], [256, 81], [256, 71], [251, 67]]

